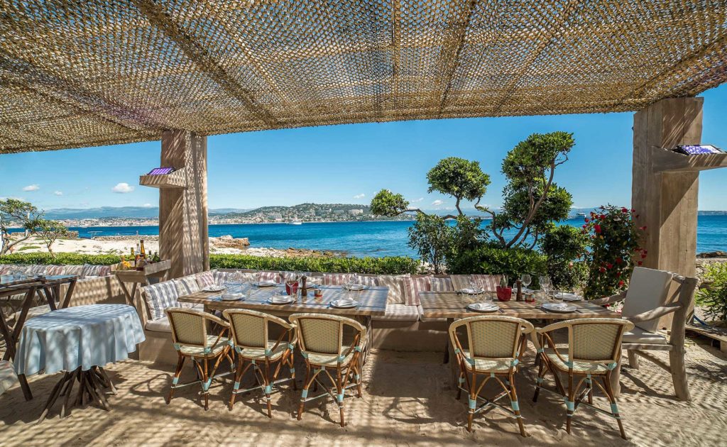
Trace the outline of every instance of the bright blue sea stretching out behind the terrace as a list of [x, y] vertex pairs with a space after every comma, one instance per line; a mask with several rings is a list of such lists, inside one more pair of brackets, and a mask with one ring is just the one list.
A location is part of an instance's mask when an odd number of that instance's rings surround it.
[[[356, 257], [410, 256], [416, 251], [407, 245], [409, 221], [305, 222], [209, 225], [210, 236], [232, 235], [249, 238], [250, 246], [273, 249], [313, 249], [342, 252]], [[485, 225], [486, 222], [483, 222]], [[583, 217], [564, 220], [561, 225], [583, 225]], [[158, 226], [71, 227], [81, 238], [94, 235], [158, 235]], [[696, 251], [727, 251], [727, 216], [702, 215], [697, 219]]]

